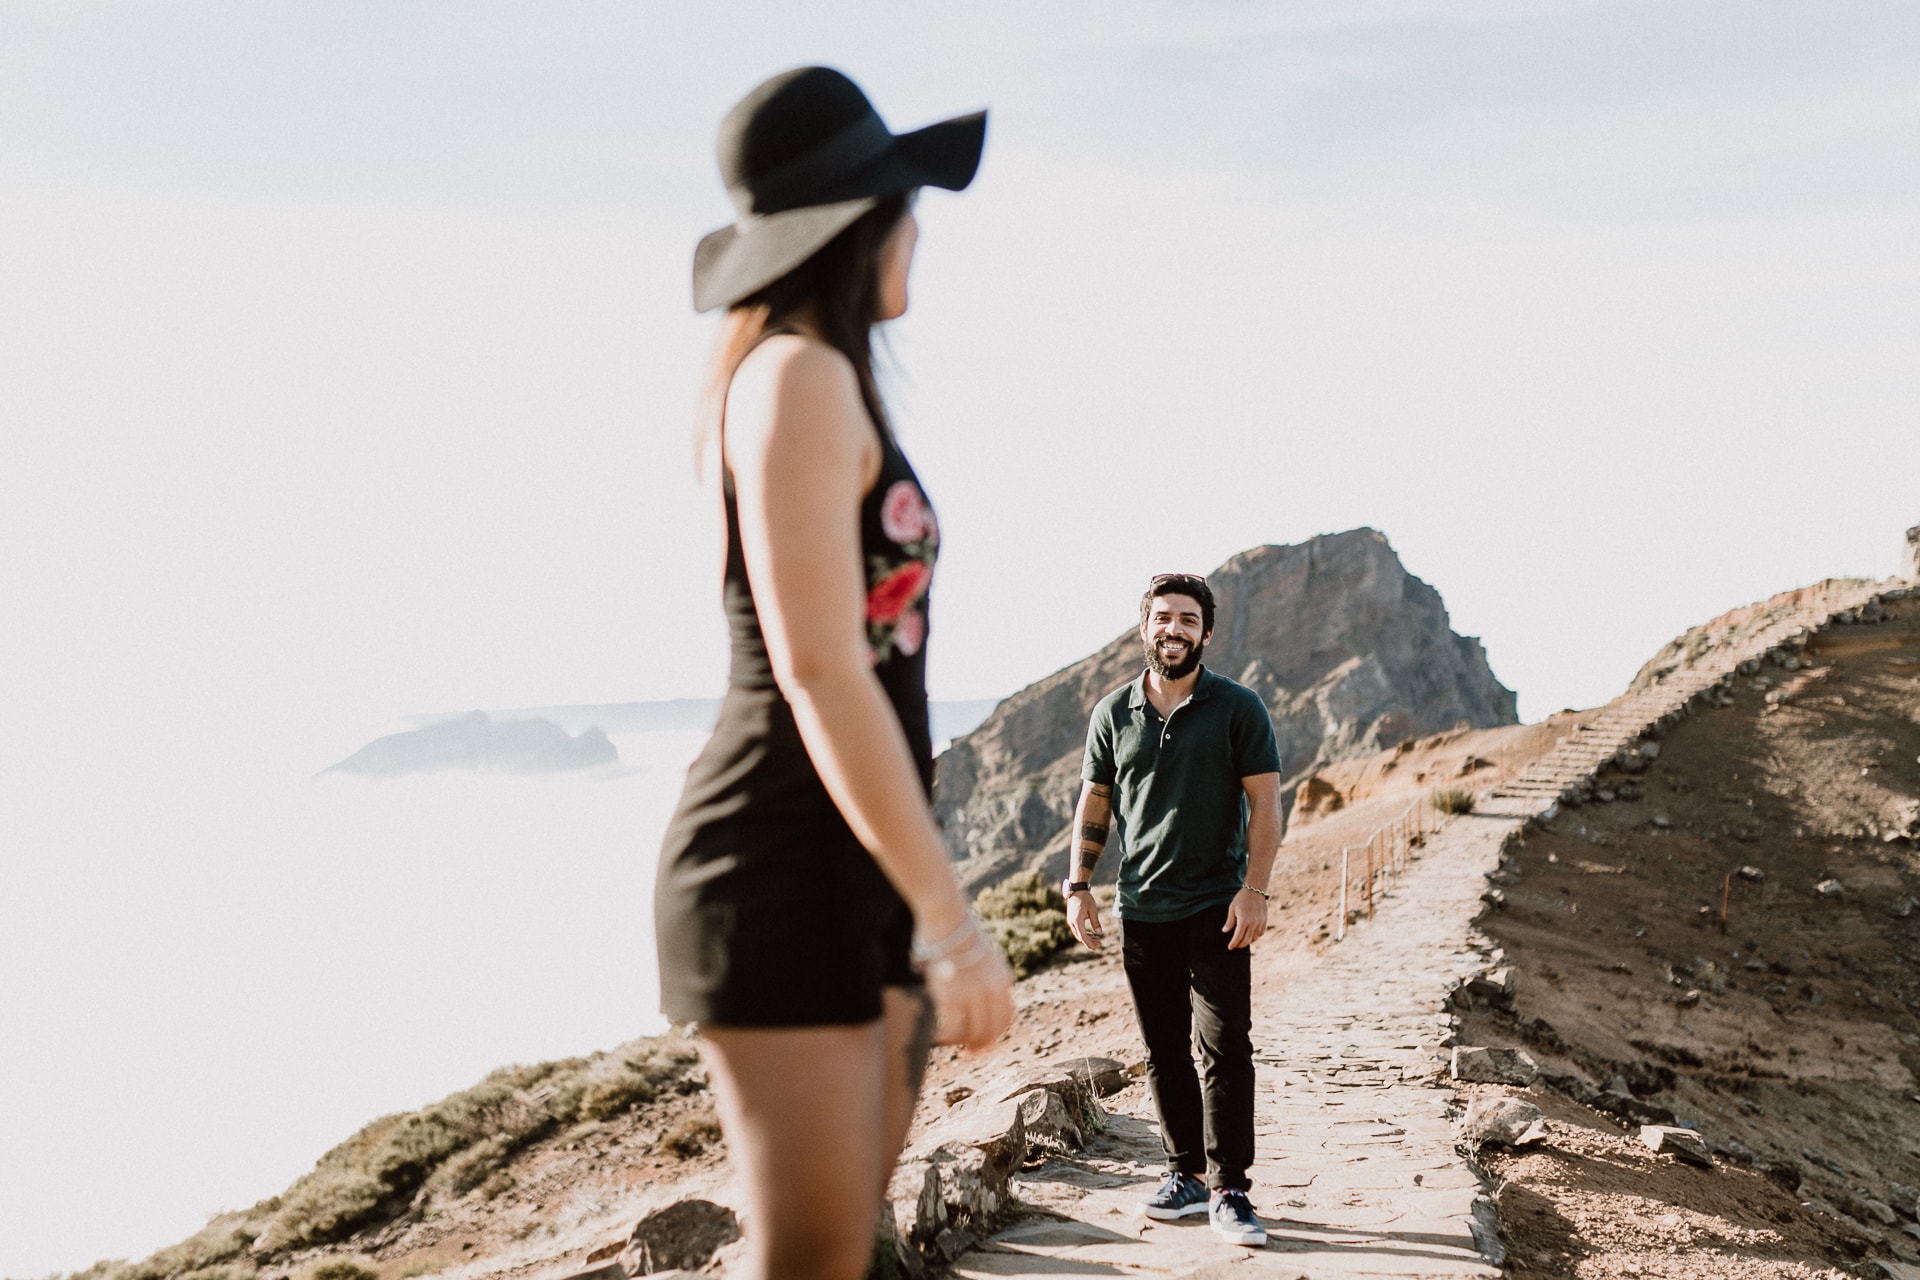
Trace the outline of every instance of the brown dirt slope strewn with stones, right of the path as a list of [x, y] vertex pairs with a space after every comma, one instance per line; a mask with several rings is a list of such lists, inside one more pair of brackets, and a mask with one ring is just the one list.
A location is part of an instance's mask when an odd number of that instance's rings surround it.
[[[1482, 927], [1515, 1009], [1461, 1040], [1559, 1094], [1551, 1148], [1492, 1165], [1515, 1274], [1920, 1261], [1920, 603], [1891, 614], [1738, 677], [1511, 850]], [[1676, 1119], [1720, 1169], [1622, 1132]]]

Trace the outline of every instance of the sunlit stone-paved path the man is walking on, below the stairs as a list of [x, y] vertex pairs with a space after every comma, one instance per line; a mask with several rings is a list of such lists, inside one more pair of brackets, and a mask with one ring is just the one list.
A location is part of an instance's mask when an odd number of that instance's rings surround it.
[[[1129, 1090], [1096, 1151], [1021, 1178], [1068, 1221], [1029, 1219], [962, 1255], [956, 1276], [1498, 1276], [1475, 1247], [1480, 1182], [1453, 1150], [1442, 1042], [1452, 981], [1486, 965], [1473, 917], [1526, 810], [1455, 818], [1379, 906], [1254, 1011], [1252, 1171], [1267, 1245], [1213, 1236], [1204, 1217], [1137, 1213], [1160, 1138]], [[1488, 1222], [1492, 1217], [1488, 1213]]]

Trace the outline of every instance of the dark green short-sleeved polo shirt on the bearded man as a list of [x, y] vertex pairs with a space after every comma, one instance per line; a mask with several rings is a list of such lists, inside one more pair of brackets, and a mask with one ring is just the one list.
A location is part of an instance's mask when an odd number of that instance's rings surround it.
[[1165, 720], [1146, 700], [1146, 672], [1100, 699], [1081, 777], [1114, 789], [1108, 850], [1119, 848], [1119, 917], [1183, 919], [1240, 892], [1240, 779], [1279, 771], [1260, 695], [1206, 666]]

